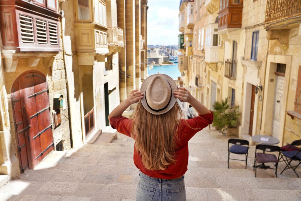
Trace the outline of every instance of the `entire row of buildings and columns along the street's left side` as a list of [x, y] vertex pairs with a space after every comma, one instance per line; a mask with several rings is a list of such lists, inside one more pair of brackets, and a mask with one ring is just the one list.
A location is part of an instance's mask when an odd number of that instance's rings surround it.
[[110, 131], [110, 111], [147, 74], [147, 1], [3, 0], [0, 12], [0, 175], [7, 181], [52, 150]]

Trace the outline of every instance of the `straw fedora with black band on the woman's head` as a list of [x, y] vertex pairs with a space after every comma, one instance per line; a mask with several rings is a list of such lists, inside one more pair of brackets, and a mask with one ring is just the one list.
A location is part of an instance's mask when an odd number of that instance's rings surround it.
[[168, 75], [151, 75], [141, 85], [140, 91], [144, 93], [144, 98], [140, 101], [147, 111], [161, 115], [175, 105], [177, 98], [173, 92], [177, 89], [175, 81]]

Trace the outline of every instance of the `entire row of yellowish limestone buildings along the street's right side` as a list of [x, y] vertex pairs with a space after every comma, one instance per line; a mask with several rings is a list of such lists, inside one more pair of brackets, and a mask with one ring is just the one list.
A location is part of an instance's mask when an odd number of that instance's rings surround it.
[[[271, 135], [280, 140], [279, 145], [301, 138], [300, 5], [300, 1], [278, 0], [181, 1], [179, 27], [184, 45], [179, 37], [179, 49], [193, 52], [191, 58], [179, 58], [183, 84], [210, 109], [225, 98], [239, 106], [239, 137]], [[195, 9], [190, 12], [193, 22], [189, 12], [183, 13], [191, 8]], [[182, 24], [181, 17], [187, 24]], [[210, 46], [212, 32], [217, 47]], [[186, 33], [191, 34], [191, 47], [186, 44]], [[200, 83], [198, 76], [203, 78]]]

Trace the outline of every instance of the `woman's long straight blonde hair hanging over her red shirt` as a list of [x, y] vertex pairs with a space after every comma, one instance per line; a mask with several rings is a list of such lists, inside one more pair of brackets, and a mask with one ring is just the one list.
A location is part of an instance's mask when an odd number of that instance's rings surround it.
[[181, 124], [182, 110], [178, 102], [166, 113], [154, 115], [139, 101], [132, 116], [131, 137], [136, 151], [148, 170], [165, 170], [175, 163], [177, 131]]

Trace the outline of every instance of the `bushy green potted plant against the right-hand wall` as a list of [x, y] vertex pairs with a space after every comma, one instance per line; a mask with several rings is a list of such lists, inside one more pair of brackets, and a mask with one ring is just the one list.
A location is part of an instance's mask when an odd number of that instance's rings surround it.
[[237, 127], [239, 126], [240, 112], [237, 111], [238, 106], [230, 107], [228, 99], [222, 102], [215, 102], [213, 105], [213, 123], [216, 130], [221, 130], [223, 134], [228, 136], [237, 135]]

